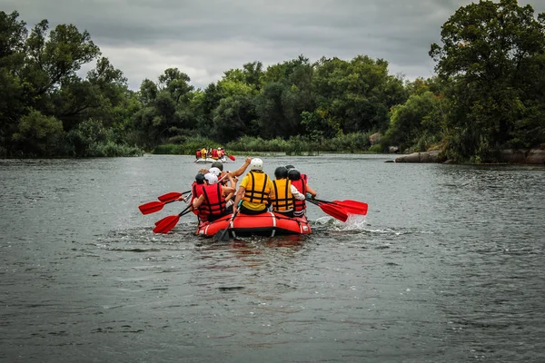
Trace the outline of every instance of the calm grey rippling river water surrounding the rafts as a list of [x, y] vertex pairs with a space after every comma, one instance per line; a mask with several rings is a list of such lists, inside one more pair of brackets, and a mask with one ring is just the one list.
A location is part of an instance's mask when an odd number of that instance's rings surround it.
[[138, 211], [192, 157], [0, 160], [0, 361], [542, 362], [545, 168], [388, 160], [263, 157], [369, 212], [229, 242]]

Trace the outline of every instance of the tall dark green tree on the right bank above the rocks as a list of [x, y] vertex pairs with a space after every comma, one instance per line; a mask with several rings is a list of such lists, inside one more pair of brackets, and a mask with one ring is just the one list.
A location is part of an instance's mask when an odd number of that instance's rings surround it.
[[516, 0], [481, 0], [449, 18], [441, 42], [430, 55], [440, 77], [455, 84], [451, 157], [490, 160], [491, 151], [520, 145], [530, 132], [531, 142], [545, 142], [545, 14], [535, 18]]

